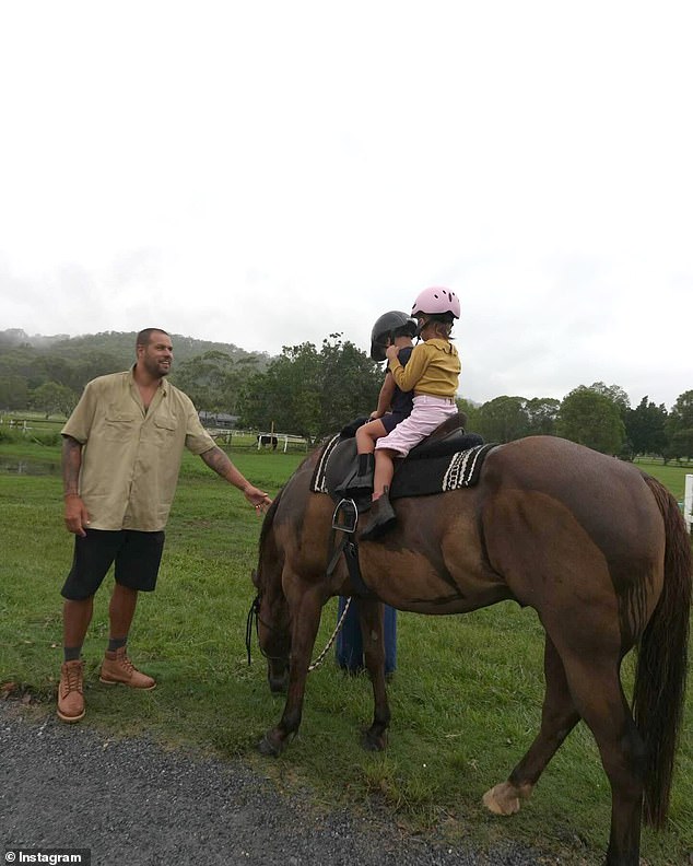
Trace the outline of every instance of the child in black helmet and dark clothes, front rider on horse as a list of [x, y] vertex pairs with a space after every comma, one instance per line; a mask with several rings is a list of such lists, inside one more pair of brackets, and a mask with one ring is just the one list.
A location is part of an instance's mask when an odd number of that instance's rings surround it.
[[[407, 313], [392, 309], [384, 313], [373, 326], [371, 332], [371, 358], [374, 361], [385, 361], [385, 351], [390, 346], [399, 349], [399, 362], [407, 364], [413, 349], [412, 337], [416, 331], [416, 320]], [[413, 407], [413, 391], [403, 391], [395, 383], [388, 370], [385, 374], [383, 387], [378, 397], [378, 406], [371, 412], [371, 420], [356, 431], [356, 450], [359, 452], [359, 475], [350, 487], [355, 489], [373, 485], [373, 470], [375, 443], [381, 436], [387, 436], [403, 421]]]

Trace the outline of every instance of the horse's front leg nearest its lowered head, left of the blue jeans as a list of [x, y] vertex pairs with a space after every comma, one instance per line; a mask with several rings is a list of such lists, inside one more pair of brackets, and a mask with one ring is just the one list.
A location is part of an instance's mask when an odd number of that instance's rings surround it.
[[289, 689], [284, 712], [277, 727], [260, 741], [262, 754], [277, 757], [286, 748], [301, 725], [306, 677], [322, 610], [322, 587], [312, 586], [294, 594], [291, 606], [292, 637], [289, 662]]

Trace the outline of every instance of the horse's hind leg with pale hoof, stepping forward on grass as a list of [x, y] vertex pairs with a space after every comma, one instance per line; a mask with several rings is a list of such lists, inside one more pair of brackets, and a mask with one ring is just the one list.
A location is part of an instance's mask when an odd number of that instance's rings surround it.
[[507, 782], [495, 785], [483, 796], [486, 808], [496, 815], [513, 815], [519, 810], [520, 799], [529, 797], [544, 768], [579, 721], [563, 662], [548, 634], [544, 645], [544, 679], [547, 691], [539, 734]]

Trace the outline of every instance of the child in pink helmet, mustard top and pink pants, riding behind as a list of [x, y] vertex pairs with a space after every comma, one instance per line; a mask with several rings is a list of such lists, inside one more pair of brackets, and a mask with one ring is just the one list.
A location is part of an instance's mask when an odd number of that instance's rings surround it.
[[389, 346], [386, 356], [397, 386], [403, 391], [414, 391], [413, 409], [409, 418], [375, 444], [373, 505], [362, 540], [379, 538], [396, 519], [388, 495], [395, 458], [406, 457], [414, 445], [457, 412], [455, 395], [461, 364], [450, 342], [450, 331], [460, 315], [459, 299], [449, 289], [424, 289], [414, 301], [411, 315], [419, 323], [418, 335], [423, 342], [414, 347], [406, 367], [399, 362], [397, 346]]

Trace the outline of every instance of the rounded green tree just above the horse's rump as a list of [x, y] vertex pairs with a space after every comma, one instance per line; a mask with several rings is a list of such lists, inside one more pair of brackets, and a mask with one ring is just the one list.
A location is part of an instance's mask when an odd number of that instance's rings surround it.
[[563, 399], [556, 433], [602, 454], [613, 455], [621, 453], [625, 440], [625, 426], [618, 405], [585, 385]]

